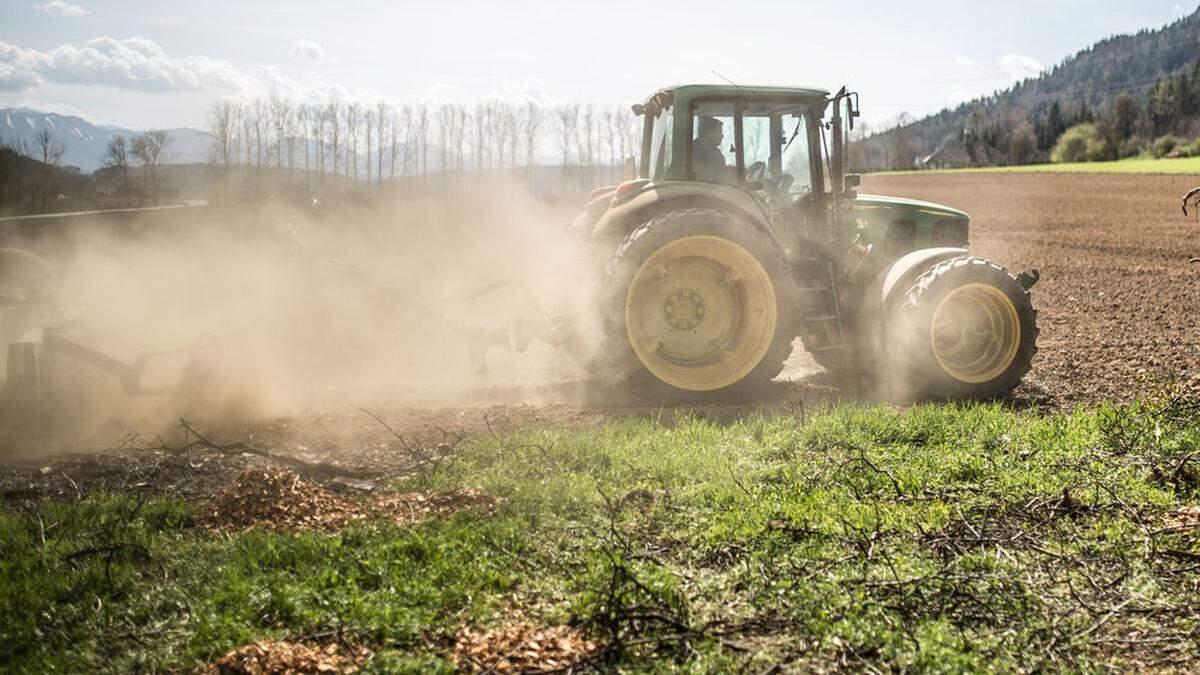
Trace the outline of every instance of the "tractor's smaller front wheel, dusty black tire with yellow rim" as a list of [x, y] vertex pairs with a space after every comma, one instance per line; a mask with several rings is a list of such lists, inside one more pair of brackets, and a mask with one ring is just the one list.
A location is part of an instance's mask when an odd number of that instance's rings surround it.
[[1037, 310], [1003, 267], [973, 256], [935, 264], [888, 317], [886, 348], [908, 394], [986, 400], [1010, 392], [1037, 353]]

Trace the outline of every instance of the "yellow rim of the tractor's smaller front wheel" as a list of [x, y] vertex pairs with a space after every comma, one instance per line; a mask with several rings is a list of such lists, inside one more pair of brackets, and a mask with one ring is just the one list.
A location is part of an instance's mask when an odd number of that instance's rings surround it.
[[1016, 306], [1000, 288], [966, 283], [950, 291], [930, 327], [934, 358], [947, 375], [979, 384], [1008, 370], [1021, 346]]

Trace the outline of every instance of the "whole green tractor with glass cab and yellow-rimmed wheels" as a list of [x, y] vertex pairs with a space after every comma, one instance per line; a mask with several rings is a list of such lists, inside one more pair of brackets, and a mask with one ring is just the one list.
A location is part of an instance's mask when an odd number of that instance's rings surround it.
[[889, 395], [994, 398], [1028, 371], [1037, 271], [971, 256], [962, 211], [858, 193], [856, 94], [684, 85], [634, 113], [637, 178], [571, 227], [604, 263], [607, 365], [643, 395], [752, 396], [797, 338]]

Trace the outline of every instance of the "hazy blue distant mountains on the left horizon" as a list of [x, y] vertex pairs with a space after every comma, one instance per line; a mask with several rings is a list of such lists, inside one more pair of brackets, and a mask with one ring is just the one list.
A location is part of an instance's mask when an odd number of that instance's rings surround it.
[[[132, 139], [142, 131], [119, 126], [96, 125], [74, 115], [43, 113], [29, 108], [0, 108], [0, 141], [31, 143], [34, 135], [48, 129], [66, 147], [64, 166], [74, 166], [91, 173], [103, 166], [104, 147], [114, 136]], [[211, 141], [194, 129], [168, 129], [170, 145], [167, 163], [204, 162], [209, 159]]]

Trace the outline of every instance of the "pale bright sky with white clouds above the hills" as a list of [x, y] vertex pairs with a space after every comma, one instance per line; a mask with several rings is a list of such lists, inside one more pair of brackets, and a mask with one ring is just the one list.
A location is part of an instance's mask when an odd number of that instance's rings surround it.
[[[203, 127], [215, 101], [640, 101], [668, 84], [860, 92], [886, 126], [1002, 89], [1172, 0], [0, 0], [0, 107]], [[714, 74], [720, 73], [720, 76]]]

